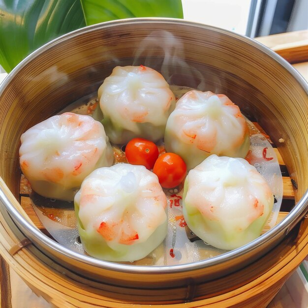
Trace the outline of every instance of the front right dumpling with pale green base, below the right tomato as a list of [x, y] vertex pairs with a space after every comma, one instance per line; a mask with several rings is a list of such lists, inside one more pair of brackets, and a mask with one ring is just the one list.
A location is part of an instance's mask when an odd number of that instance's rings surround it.
[[185, 180], [183, 214], [188, 227], [220, 249], [235, 249], [259, 237], [273, 204], [269, 185], [243, 158], [211, 155]]

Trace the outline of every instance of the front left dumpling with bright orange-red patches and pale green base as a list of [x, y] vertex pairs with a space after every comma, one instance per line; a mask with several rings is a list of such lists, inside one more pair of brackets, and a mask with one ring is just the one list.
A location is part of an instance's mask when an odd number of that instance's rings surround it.
[[95, 258], [139, 260], [166, 237], [166, 195], [144, 166], [120, 163], [93, 171], [74, 203], [81, 242]]

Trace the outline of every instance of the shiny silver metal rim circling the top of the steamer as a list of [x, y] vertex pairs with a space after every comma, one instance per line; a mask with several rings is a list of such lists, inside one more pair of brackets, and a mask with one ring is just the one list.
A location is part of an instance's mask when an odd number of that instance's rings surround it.
[[[280, 65], [282, 65], [286, 70], [288, 70], [299, 82], [299, 84], [302, 86], [302, 88], [305, 90], [305, 92], [308, 95], [308, 84], [305, 81], [305, 79], [295, 70], [288, 62], [286, 62], [284, 59], [282, 59], [280, 56], [278, 56], [275, 52], [267, 48], [266, 46], [248, 38], [240, 34], [233, 33], [231, 31], [222, 30], [219, 28], [206, 26], [198, 23], [188, 22], [184, 20], [179, 19], [171, 19], [171, 18], [136, 18], [136, 19], [124, 19], [119, 21], [111, 21], [106, 23], [101, 23], [93, 26], [88, 26], [80, 30], [76, 30], [73, 32], [70, 32], [68, 34], [62, 35], [61, 37], [45, 44], [44, 46], [40, 47], [33, 53], [31, 53], [27, 58], [25, 58], [22, 62], [20, 62], [9, 75], [5, 78], [5, 80], [2, 82], [0, 86], [0, 95], [4, 91], [5, 87], [9, 84], [9, 82], [16, 76], [18, 71], [23, 68], [25, 65], [27, 65], [33, 57], [36, 57], [43, 53], [44, 51], [48, 50], [49, 48], [53, 47], [56, 44], [59, 44], [67, 39], [70, 39], [71, 37], [74, 37], [76, 35], [79, 35], [80, 33], [86, 33], [95, 31], [96, 29], [100, 28], [110, 28], [114, 27], [119, 24], [136, 24], [136, 23], [160, 23], [160, 24], [185, 24], [192, 27], [197, 28], [203, 28], [205, 30], [211, 30], [216, 31], [218, 33], [227, 33], [228, 35], [234, 36], [235, 38], [241, 38], [242, 40], [245, 40], [248, 44], [253, 45], [255, 48], [259, 49], [260, 51], [264, 52], [265, 54], [269, 55], [271, 58], [276, 60]], [[72, 258], [76, 261], [79, 261], [84, 264], [105, 268], [108, 270], [118, 271], [118, 272], [125, 272], [125, 273], [132, 273], [132, 274], [157, 274], [158, 272], [160, 274], [162, 273], [180, 273], [185, 271], [192, 271], [197, 270], [201, 268], [206, 268], [210, 266], [214, 266], [216, 264], [222, 263], [224, 261], [229, 261], [232, 259], [235, 259], [243, 254], [246, 254], [249, 251], [255, 250], [258, 247], [262, 246], [262, 244], [270, 239], [276, 238], [277, 236], [285, 233], [287, 234], [306, 214], [307, 208], [308, 208], [308, 190], [304, 194], [304, 196], [299, 200], [297, 205], [291, 210], [291, 212], [286, 216], [286, 218], [277, 224], [275, 227], [273, 227], [271, 230], [266, 232], [264, 235], [260, 236], [256, 240], [250, 242], [249, 244], [242, 246], [240, 248], [231, 250], [229, 252], [223, 253], [219, 256], [212, 257], [203, 261], [199, 261], [196, 263], [188, 263], [188, 264], [182, 264], [182, 265], [174, 265], [174, 266], [134, 266], [134, 265], [123, 265], [123, 264], [117, 264], [107, 261], [98, 260], [95, 258], [92, 258], [90, 256], [86, 256], [77, 252], [74, 252], [72, 250], [69, 250], [62, 245], [58, 244], [57, 242], [51, 240], [49, 237], [44, 235], [42, 232], [40, 232], [38, 229], [33, 227], [13, 206], [13, 204], [8, 200], [8, 198], [5, 196], [4, 192], [0, 189], [0, 199], [2, 203], [4, 204], [7, 212], [12, 216], [13, 220], [17, 223], [17, 225], [23, 226], [23, 228], [26, 230], [28, 234], [31, 234], [32, 238], [35, 238], [37, 242], [41, 243], [43, 246], [48, 246], [55, 251], [59, 252], [62, 255], [65, 255], [66, 257]]]

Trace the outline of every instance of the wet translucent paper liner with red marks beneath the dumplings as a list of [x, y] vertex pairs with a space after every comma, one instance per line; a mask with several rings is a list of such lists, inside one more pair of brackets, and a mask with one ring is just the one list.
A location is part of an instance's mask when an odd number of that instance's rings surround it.
[[[177, 98], [191, 90], [185, 87], [171, 86]], [[72, 111], [79, 114], [92, 114], [97, 101], [92, 96], [83, 97], [62, 112]], [[246, 159], [254, 165], [259, 173], [266, 179], [275, 196], [275, 204], [269, 221], [263, 232], [272, 228], [277, 221], [282, 202], [282, 176], [277, 156], [271, 144], [259, 130], [247, 120], [250, 134], [250, 149]], [[125, 161], [121, 149], [113, 147], [116, 162]], [[121, 262], [135, 265], [178, 265], [197, 262], [224, 253], [224, 250], [210, 246], [193, 233], [186, 226], [182, 213], [183, 185], [175, 189], [165, 189], [167, 196], [168, 233], [165, 241], [152, 253], [142, 260], [134, 262]], [[32, 206], [46, 230], [61, 245], [86, 254], [79, 240], [77, 220], [74, 213], [73, 202], [61, 202], [46, 199], [31, 194]]]

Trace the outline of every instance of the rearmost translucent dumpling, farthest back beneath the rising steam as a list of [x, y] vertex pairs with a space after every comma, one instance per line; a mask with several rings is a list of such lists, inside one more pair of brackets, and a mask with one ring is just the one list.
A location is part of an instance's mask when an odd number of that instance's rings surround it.
[[135, 137], [154, 142], [163, 138], [175, 107], [163, 76], [143, 65], [115, 67], [98, 89], [98, 99], [107, 136], [116, 144]]

